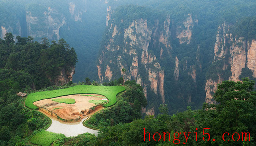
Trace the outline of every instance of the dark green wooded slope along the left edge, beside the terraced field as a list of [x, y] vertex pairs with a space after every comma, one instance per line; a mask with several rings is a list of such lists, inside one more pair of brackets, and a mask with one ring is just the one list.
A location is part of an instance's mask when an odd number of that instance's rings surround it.
[[[0, 39], [1, 146], [24, 146], [29, 143], [34, 131], [46, 129], [51, 124], [51, 120], [44, 114], [25, 108], [24, 98], [16, 93], [31, 93], [33, 89], [48, 88], [53, 83], [46, 77], [47, 72], [52, 72], [49, 78], [55, 78], [53, 75], [57, 75], [60, 68], [68, 69], [76, 63], [74, 49], [64, 48], [66, 43], [60, 44], [64, 40], [49, 45], [46, 38], [45, 43], [33, 42], [31, 37], [18, 36], [17, 39], [19, 41], [15, 44], [11, 33], [7, 33], [5, 40]], [[51, 58], [41, 62], [43, 52], [49, 55], [47, 58]]]

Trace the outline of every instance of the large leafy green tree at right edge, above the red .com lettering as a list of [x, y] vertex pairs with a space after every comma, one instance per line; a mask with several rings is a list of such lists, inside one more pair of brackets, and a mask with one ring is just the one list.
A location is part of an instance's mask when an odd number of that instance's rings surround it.
[[[208, 109], [207, 112], [215, 113], [215, 118], [198, 121], [205, 122], [204, 125], [211, 123], [214, 128], [209, 133], [213, 133], [213, 135], [222, 135], [224, 131], [229, 134], [249, 132], [254, 135], [256, 133], [254, 124], [256, 123], [256, 92], [253, 85], [253, 81], [248, 78], [244, 78], [242, 82], [223, 81], [222, 84], [218, 85], [213, 96], [218, 104], [204, 105], [204, 108]], [[214, 110], [210, 110], [210, 108]], [[224, 138], [229, 139], [227, 135]], [[234, 136], [234, 139], [238, 139], [238, 136]], [[219, 145], [225, 143], [222, 137], [215, 140], [221, 142]], [[242, 145], [242, 142], [229, 142], [233, 145]]]

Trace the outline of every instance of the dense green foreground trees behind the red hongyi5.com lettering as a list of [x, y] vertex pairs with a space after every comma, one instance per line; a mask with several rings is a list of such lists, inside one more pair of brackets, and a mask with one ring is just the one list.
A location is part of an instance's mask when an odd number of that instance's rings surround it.
[[[98, 137], [83, 134], [75, 138], [64, 138], [56, 141], [56, 143], [59, 145], [67, 145], [76, 142], [78, 145], [83, 146], [175, 146], [177, 145], [175, 143], [186, 143], [190, 146], [253, 146], [255, 145], [256, 135], [256, 121], [254, 118], [256, 114], [256, 91], [253, 89], [253, 85], [254, 83], [247, 78], [242, 82], [224, 81], [218, 86], [218, 89], [214, 94], [214, 99], [218, 104], [204, 104], [202, 110], [191, 110], [191, 107], [187, 107], [187, 111], [178, 112], [172, 116], [167, 114], [168, 108], [166, 105], [160, 105], [160, 114], [155, 118], [153, 116], [146, 116], [144, 119], [134, 119], [130, 123], [122, 120], [122, 118], [124, 118], [123, 114], [112, 110], [112, 108], [119, 107], [118, 100], [114, 107], [108, 109], [112, 111], [112, 113], [105, 110], [91, 117], [93, 121], [97, 121], [98, 116], [103, 117], [101, 118], [102, 121], [98, 121], [98, 127], [101, 128], [101, 133]], [[128, 90], [129, 89], [127, 89], [127, 91]], [[123, 97], [125, 97], [124, 93], [121, 94], [123, 95], [120, 97], [120, 101], [125, 101], [125, 98], [123, 99]], [[122, 107], [119, 108], [120, 110], [123, 109]], [[108, 116], [112, 115], [115, 116], [111, 119], [108, 118]], [[88, 123], [91, 121], [90, 119], [88, 120]], [[116, 120], [120, 120], [120, 123], [115, 123]], [[149, 135], [146, 134], [146, 142], [143, 142], [143, 128], [145, 128], [145, 132], [150, 132], [151, 141], [149, 141]], [[210, 128], [204, 130], [204, 133], [207, 132], [210, 134], [210, 138], [208, 137], [208, 134], [203, 135], [203, 128]], [[161, 139], [158, 142], [154, 141], [154, 139], [158, 140], [159, 134], [156, 134], [153, 139], [153, 134], [155, 132], [161, 134]], [[167, 134], [165, 141], [163, 142], [163, 132], [170, 133], [170, 141], [169, 135]], [[175, 140], [173, 137], [175, 132], [185, 132], [187, 140], [183, 133], [179, 136], [176, 134]], [[188, 132], [191, 132], [189, 136]], [[197, 132], [197, 141], [194, 132]], [[224, 135], [226, 141], [230, 138], [228, 142], [225, 142], [222, 139], [222, 135], [225, 132], [230, 134]], [[240, 139], [237, 134], [234, 134], [234, 140], [239, 139], [237, 142], [232, 140], [232, 134], [234, 132], [240, 134]], [[249, 135], [247, 134], [245, 137], [244, 134], [242, 136], [241, 132], [249, 132], [250, 141]], [[82, 138], [85, 138], [85, 140], [82, 140]], [[208, 139], [209, 141], [207, 141]], [[215, 141], [212, 141], [213, 139], [215, 139]], [[244, 140], [242, 141], [242, 139]]]

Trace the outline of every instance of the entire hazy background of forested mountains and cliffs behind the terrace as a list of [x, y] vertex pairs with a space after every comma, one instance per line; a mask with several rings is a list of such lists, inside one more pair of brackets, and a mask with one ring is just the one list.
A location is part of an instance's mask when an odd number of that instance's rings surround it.
[[255, 5], [253, 0], [1, 1], [0, 37], [12, 32], [36, 41], [64, 38], [78, 53], [75, 82], [114, 81], [125, 68], [125, 79], [144, 89], [145, 114], [157, 114], [161, 103], [173, 114], [212, 103], [223, 80], [254, 80]]

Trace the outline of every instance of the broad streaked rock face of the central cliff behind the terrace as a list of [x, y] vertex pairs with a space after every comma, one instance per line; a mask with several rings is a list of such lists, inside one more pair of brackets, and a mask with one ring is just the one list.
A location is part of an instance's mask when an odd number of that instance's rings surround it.
[[[162, 43], [165, 47], [161, 48], [161, 54], [164, 51], [170, 52], [171, 46], [168, 41], [170, 37], [170, 16], [167, 16], [161, 24], [156, 21], [153, 26], [148, 26], [147, 19], [135, 19], [129, 23], [127, 28], [119, 28], [110, 18], [112, 13], [110, 8], [108, 7], [106, 25], [111, 35], [108, 35], [108, 41], [106, 41], [106, 45], [99, 55], [97, 63], [99, 80], [103, 82], [113, 80], [114, 76], [124, 76], [125, 80], [135, 80], [142, 85], [146, 97], [147, 90], [151, 90], [161, 97], [159, 99], [161, 103], [165, 103], [165, 73], [161, 69], [156, 55], [149, 51], [148, 47], [152, 41], [153, 45]], [[120, 23], [123, 23], [122, 19]], [[159, 30], [160, 25], [162, 25], [161, 28], [164, 28], [161, 31]], [[117, 45], [115, 42], [120, 42], [118, 40], [120, 37], [123, 38], [123, 41]], [[112, 57], [108, 58], [107, 56]], [[103, 68], [106, 69], [105, 75], [102, 73]], [[126, 69], [125, 73], [122, 72], [123, 68]], [[151, 108], [143, 111], [152, 115], [155, 114], [154, 110], [154, 108]]]

